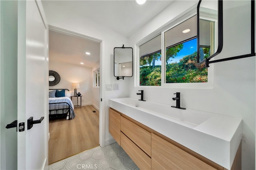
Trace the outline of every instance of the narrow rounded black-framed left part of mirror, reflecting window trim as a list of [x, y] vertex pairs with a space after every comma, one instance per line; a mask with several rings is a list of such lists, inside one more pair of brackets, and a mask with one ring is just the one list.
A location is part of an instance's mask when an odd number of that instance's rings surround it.
[[197, 6], [197, 63], [201, 64], [222, 51], [223, 2], [199, 0]]

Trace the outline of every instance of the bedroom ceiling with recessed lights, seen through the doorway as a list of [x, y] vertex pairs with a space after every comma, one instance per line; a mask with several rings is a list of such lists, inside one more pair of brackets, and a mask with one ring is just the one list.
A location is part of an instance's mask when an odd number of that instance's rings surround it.
[[49, 59], [94, 67], [100, 62], [100, 43], [74, 34], [49, 30]]

